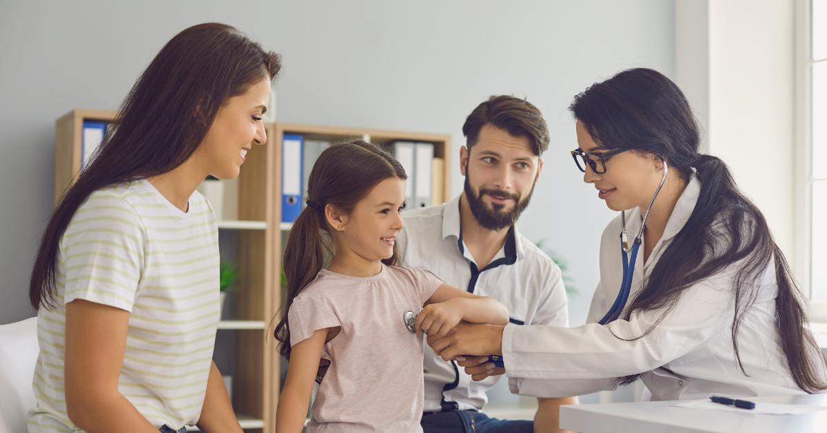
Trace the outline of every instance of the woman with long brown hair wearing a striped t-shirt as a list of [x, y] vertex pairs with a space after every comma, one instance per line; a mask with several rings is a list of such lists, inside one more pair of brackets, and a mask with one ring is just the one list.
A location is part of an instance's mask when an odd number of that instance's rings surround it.
[[29, 431], [241, 432], [212, 362], [218, 228], [195, 192], [266, 141], [280, 57], [232, 26], [174, 36], [65, 192], [31, 272], [41, 353]]

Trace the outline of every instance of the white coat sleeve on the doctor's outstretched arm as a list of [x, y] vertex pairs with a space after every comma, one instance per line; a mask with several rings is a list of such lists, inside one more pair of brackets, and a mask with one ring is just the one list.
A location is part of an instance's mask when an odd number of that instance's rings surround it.
[[[732, 320], [731, 283], [728, 275], [691, 286], [674, 310], [643, 338], [636, 339], [657, 322], [661, 312], [635, 313], [629, 320], [576, 328], [507, 325], [503, 332], [506, 376], [579, 381], [614, 379], [658, 368], [691, 353], [720, 332], [727, 332]], [[605, 383], [582, 385], [586, 389]], [[528, 387], [524, 381], [523, 387]], [[525, 395], [522, 387], [519, 393]]]

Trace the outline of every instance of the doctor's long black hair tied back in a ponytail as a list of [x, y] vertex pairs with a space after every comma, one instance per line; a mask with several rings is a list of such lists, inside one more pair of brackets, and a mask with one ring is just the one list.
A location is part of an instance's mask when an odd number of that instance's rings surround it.
[[[624, 320], [632, 312], [663, 311], [638, 339], [657, 327], [686, 289], [736, 265], [732, 343], [739, 368], [748, 375], [739, 355], [739, 326], [758, 296], [756, 282], [772, 263], [778, 285], [776, 326], [792, 378], [805, 392], [827, 389], [819, 373], [825, 369], [825, 358], [806, 323], [805, 298], [784, 254], [724, 161], [698, 153], [700, 128], [681, 89], [655, 70], [625, 70], [578, 94], [569, 110], [601, 147], [662, 156], [685, 182], [692, 168], [700, 180], [700, 196], [689, 220], [624, 309]], [[641, 375], [619, 382], [629, 384]]]

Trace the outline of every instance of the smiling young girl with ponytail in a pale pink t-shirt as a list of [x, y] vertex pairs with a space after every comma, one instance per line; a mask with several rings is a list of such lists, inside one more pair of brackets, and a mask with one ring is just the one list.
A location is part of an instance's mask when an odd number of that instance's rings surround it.
[[[508, 323], [494, 299], [395, 266], [406, 178], [398, 161], [366, 142], [329, 147], [313, 166], [308, 207], [284, 251], [287, 310], [275, 335], [290, 363], [277, 432], [302, 431], [321, 358], [330, 366], [308, 432], [422, 431], [421, 332], [445, 335], [460, 320]], [[403, 314], [420, 309], [414, 335]]]

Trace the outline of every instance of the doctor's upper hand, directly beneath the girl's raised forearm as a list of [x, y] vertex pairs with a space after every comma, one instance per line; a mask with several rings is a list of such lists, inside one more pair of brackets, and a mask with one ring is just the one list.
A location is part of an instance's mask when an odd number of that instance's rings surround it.
[[444, 337], [439, 334], [428, 335], [428, 345], [445, 361], [462, 355], [502, 355], [504, 328], [461, 322]]

